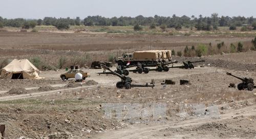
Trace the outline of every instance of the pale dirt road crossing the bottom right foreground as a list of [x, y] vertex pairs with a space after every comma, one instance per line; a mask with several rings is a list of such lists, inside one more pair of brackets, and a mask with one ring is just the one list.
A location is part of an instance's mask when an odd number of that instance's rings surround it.
[[[239, 114], [238, 114], [239, 113]], [[120, 130], [114, 130], [114, 131], [106, 131], [104, 133], [101, 133], [99, 135], [96, 135], [95, 138], [198, 138], [199, 136], [203, 136], [205, 138], [219, 138], [218, 135], [216, 135], [214, 132], [208, 132], [208, 134], [200, 134], [194, 132], [193, 135], [184, 134], [180, 132], [179, 134], [175, 134], [173, 132], [170, 132], [172, 135], [165, 136], [166, 132], [162, 132], [161, 130], [164, 130], [166, 128], [181, 128], [181, 127], [199, 127], [200, 125], [203, 125], [205, 123], [223, 123], [227, 120], [234, 120], [233, 115], [236, 115], [236, 117], [241, 117], [243, 115], [243, 118], [249, 118], [252, 115], [256, 115], [256, 106], [248, 106], [237, 110], [230, 110], [226, 112], [225, 114], [221, 114], [220, 119], [189, 119], [178, 122], [167, 122], [167, 123], [161, 123], [161, 124], [148, 124], [148, 125], [135, 125], [130, 126], [125, 129]], [[246, 125], [242, 125], [244, 128], [246, 128]], [[199, 131], [200, 132], [200, 131]], [[256, 137], [256, 134], [255, 136]]]

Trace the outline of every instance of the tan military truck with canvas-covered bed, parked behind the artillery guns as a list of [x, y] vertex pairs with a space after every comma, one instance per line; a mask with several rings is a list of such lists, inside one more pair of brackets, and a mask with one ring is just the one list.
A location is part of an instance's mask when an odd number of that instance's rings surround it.
[[157, 64], [172, 60], [170, 50], [136, 51], [115, 59], [118, 65]]

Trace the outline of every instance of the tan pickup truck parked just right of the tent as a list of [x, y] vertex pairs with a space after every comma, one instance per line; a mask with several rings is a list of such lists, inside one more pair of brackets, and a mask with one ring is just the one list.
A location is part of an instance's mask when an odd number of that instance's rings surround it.
[[87, 77], [90, 77], [90, 74], [88, 72], [83, 72], [81, 69], [71, 69], [67, 73], [60, 74], [60, 78], [62, 80], [68, 80], [69, 78], [75, 78], [75, 75], [77, 73], [82, 74], [82, 79], [85, 80]]

